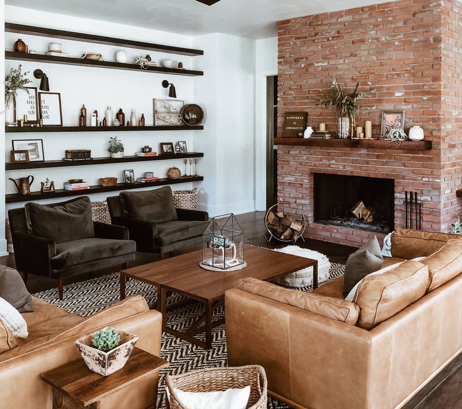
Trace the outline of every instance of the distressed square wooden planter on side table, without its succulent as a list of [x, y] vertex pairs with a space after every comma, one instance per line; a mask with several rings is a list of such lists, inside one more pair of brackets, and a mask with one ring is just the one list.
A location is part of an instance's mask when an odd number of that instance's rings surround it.
[[79, 349], [80, 355], [82, 355], [88, 369], [99, 373], [100, 375], [108, 376], [124, 367], [136, 342], [138, 341], [138, 337], [136, 335], [117, 330], [121, 343], [118, 347], [111, 349], [108, 352], [104, 352], [95, 348], [92, 344], [92, 340], [96, 332], [78, 339], [75, 341], [75, 345], [77, 346], [77, 349]]

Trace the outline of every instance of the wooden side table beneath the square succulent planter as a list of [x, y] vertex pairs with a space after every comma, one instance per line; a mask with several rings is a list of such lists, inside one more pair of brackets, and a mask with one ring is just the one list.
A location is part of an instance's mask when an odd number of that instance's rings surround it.
[[103, 397], [168, 366], [168, 361], [135, 347], [125, 366], [109, 376], [90, 371], [80, 358], [40, 378], [53, 387], [53, 409], [98, 409]]

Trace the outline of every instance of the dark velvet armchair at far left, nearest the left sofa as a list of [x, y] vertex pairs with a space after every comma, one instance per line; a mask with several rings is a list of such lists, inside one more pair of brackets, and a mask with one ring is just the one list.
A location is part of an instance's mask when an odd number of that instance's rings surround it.
[[[82, 198], [63, 203], [33, 205], [41, 206], [42, 209], [45, 206], [63, 208], [63, 206], [72, 205], [73, 202], [80, 199]], [[90, 205], [90, 199], [86, 199], [88, 200], [84, 206]], [[88, 212], [88, 209], [85, 211]], [[62, 300], [64, 277], [118, 264], [128, 268], [128, 262], [134, 260], [136, 251], [135, 242], [128, 240], [128, 229], [112, 224], [92, 222], [91, 207], [89, 211], [90, 216], [89, 220], [87, 217], [87, 220], [91, 233], [76, 240], [59, 240], [58, 242], [47, 234], [42, 234], [39, 228], [33, 229], [31, 232], [30, 219], [29, 217], [26, 218], [24, 207], [8, 211], [16, 269], [23, 274], [26, 284], [29, 274], [55, 278], [58, 281], [59, 298]], [[54, 213], [42, 215], [42, 218], [45, 218], [43, 224], [48, 223], [55, 231], [67, 233], [67, 235], [73, 235], [73, 231], [79, 230], [80, 225], [76, 226], [66, 222], [66, 211], [62, 212], [64, 218], [61, 217], [61, 219], [59, 218], [60, 215], [53, 219], [53, 215]], [[76, 223], [79, 221], [76, 220]], [[66, 232], [70, 229], [73, 231]]]

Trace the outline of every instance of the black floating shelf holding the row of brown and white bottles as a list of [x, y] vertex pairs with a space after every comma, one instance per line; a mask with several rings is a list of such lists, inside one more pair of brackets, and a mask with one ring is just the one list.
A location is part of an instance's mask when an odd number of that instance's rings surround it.
[[5, 133], [23, 132], [145, 132], [145, 131], [199, 131], [202, 125], [187, 126], [5, 126]]

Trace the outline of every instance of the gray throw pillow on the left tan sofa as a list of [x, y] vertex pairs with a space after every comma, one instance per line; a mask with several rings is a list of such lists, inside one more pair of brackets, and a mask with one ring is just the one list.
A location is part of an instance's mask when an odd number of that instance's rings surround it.
[[34, 311], [32, 295], [27, 291], [18, 271], [0, 265], [0, 297], [9, 302], [20, 313]]

